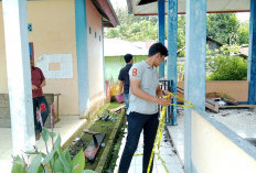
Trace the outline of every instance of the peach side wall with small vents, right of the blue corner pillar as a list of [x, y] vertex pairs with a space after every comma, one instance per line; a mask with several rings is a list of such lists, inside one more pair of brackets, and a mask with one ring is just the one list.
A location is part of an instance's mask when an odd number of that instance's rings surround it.
[[90, 0], [86, 0], [88, 68], [89, 68], [89, 107], [90, 111], [103, 105], [104, 68], [103, 68], [103, 25], [102, 15]]

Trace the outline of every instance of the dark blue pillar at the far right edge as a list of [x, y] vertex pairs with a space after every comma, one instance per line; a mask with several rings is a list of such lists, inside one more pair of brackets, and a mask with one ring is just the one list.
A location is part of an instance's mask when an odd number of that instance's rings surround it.
[[247, 80], [249, 82], [248, 104], [255, 105], [256, 91], [256, 0], [250, 0], [249, 57]]

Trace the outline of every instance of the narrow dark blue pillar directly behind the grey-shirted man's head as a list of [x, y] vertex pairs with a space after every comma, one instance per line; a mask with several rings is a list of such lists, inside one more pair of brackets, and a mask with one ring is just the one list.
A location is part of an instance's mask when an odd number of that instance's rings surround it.
[[[158, 41], [164, 45], [164, 18], [166, 4], [164, 0], [158, 1]], [[159, 66], [159, 77], [164, 77], [164, 61]]]

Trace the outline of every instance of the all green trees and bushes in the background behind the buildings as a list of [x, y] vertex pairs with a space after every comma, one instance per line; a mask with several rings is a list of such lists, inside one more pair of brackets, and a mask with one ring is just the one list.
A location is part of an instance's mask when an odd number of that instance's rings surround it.
[[[109, 39], [119, 37], [127, 41], [158, 40], [158, 17], [135, 17], [125, 9], [117, 9], [120, 25], [109, 29], [105, 36]], [[168, 21], [168, 18], [167, 18]], [[166, 21], [166, 31], [167, 31]], [[244, 80], [247, 75], [247, 61], [233, 56], [237, 53], [235, 45], [248, 45], [249, 22], [239, 22], [235, 13], [211, 13], [207, 14], [207, 36], [221, 42], [224, 46], [218, 51], [209, 52], [207, 69], [211, 80]], [[166, 32], [167, 39], [167, 32]], [[178, 50], [185, 46], [185, 15], [178, 17]], [[235, 48], [236, 47], [236, 48]], [[184, 56], [184, 50], [179, 54]], [[182, 65], [178, 71], [183, 74]]]

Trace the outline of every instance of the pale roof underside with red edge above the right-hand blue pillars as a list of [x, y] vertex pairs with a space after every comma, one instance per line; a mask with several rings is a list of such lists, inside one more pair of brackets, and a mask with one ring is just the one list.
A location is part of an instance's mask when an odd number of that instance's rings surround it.
[[[154, 2], [152, 2], [154, 1]], [[158, 14], [158, 0], [127, 0], [128, 11], [135, 15], [156, 15]], [[178, 0], [178, 12], [185, 13], [185, 1]], [[147, 3], [139, 6], [139, 3]], [[166, 13], [168, 13], [168, 1], [166, 1]], [[209, 13], [224, 12], [248, 12], [250, 0], [207, 0]]]

